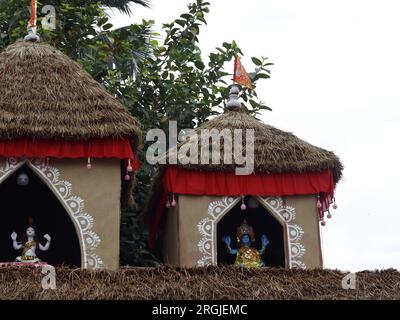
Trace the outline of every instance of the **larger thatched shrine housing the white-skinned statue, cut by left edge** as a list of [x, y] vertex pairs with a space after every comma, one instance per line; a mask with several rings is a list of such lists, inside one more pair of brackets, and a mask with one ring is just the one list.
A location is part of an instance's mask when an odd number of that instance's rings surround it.
[[78, 63], [37, 40], [0, 53], [0, 262], [21, 255], [116, 269], [139, 123]]

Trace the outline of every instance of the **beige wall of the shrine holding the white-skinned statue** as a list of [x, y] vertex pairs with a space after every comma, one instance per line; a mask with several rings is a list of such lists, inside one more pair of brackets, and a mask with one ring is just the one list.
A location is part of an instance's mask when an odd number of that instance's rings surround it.
[[[103, 261], [105, 268], [115, 270], [119, 267], [120, 250], [120, 161], [92, 159], [91, 169], [86, 168], [86, 161], [51, 159], [50, 165], [60, 171], [60, 180], [71, 183], [71, 194], [84, 200], [84, 212], [93, 217], [92, 230], [101, 240], [94, 253]], [[4, 167], [4, 158], [0, 160], [0, 165]], [[82, 243], [81, 262], [83, 267]]]

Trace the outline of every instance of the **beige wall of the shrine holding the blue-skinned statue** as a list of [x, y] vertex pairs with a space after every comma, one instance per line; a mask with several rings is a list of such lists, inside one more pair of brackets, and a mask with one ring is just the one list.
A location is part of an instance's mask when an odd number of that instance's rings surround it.
[[[221, 197], [179, 195], [177, 208], [168, 210], [166, 218], [164, 258], [168, 264], [198, 266], [197, 261], [202, 258], [198, 243], [202, 236], [197, 225], [208, 216], [210, 202], [220, 199]], [[293, 196], [283, 200], [287, 205], [296, 208], [296, 224], [304, 231], [301, 243], [306, 252], [301, 261], [308, 269], [321, 268], [322, 254], [315, 197]]]

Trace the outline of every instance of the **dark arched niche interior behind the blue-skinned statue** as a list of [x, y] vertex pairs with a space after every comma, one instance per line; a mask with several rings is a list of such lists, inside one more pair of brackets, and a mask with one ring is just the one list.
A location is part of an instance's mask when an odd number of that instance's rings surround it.
[[[254, 198], [253, 198], [254, 199]], [[231, 248], [237, 249], [236, 230], [246, 219], [249, 225], [254, 229], [256, 241], [253, 243], [255, 248], [261, 248], [261, 236], [267, 235], [270, 243], [268, 244], [265, 253], [262, 255], [262, 260], [266, 266], [270, 267], [285, 267], [285, 244], [283, 226], [265, 209], [257, 200], [257, 208], [251, 208], [249, 205], [250, 197], [245, 198], [246, 210], [240, 209], [241, 202], [233, 207], [219, 221], [217, 225], [217, 258], [218, 264], [234, 264], [235, 255], [228, 253], [225, 243], [222, 238], [226, 235], [231, 237]]]

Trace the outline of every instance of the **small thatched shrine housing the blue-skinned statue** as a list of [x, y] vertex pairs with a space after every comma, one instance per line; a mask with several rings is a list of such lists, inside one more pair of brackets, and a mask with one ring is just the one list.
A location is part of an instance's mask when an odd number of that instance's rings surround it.
[[[199, 158], [160, 166], [146, 209], [150, 243], [162, 246], [165, 263], [177, 266], [245, 266], [249, 258], [249, 266], [320, 268], [320, 224], [325, 213], [331, 217], [330, 204], [336, 208], [342, 164], [332, 152], [256, 120], [238, 93], [233, 87], [225, 113], [178, 144], [176, 151], [198, 150]], [[254, 130], [252, 173], [235, 174], [238, 165], [225, 157], [232, 140], [211, 143], [205, 129]], [[244, 132], [242, 144], [246, 149]], [[209, 152], [200, 150], [204, 145]], [[215, 145], [219, 163], [212, 159]], [[243, 244], [261, 250], [242, 252]]]

